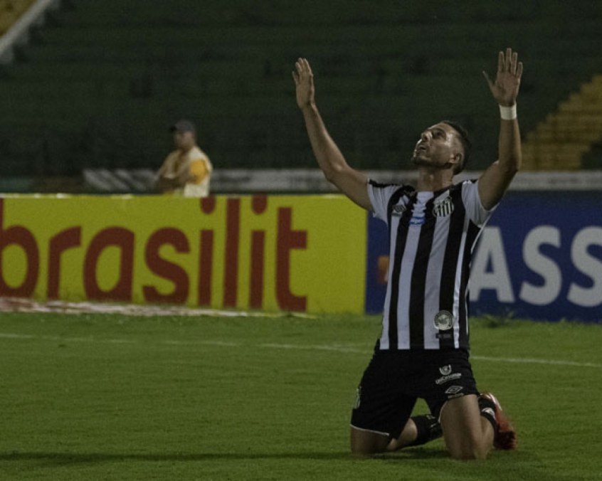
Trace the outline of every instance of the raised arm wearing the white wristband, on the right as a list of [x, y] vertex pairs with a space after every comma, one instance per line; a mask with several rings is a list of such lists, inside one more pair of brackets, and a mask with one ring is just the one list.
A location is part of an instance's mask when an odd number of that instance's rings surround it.
[[483, 72], [491, 93], [500, 105], [500, 137], [498, 158], [479, 179], [479, 196], [487, 209], [494, 207], [504, 196], [522, 161], [516, 101], [522, 75], [522, 62], [516, 52], [507, 48], [497, 56], [497, 74], [492, 81]]

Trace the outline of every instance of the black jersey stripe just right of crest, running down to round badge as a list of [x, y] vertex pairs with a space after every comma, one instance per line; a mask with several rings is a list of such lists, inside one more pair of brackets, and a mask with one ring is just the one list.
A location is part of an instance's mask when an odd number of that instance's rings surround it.
[[[450, 189], [450, 197], [453, 201], [453, 213], [450, 217], [448, 243], [445, 245], [445, 255], [443, 256], [443, 268], [441, 269], [440, 290], [439, 290], [439, 309], [453, 312], [453, 293], [456, 279], [456, 269], [458, 268], [458, 255], [460, 254], [460, 241], [464, 229], [465, 207], [462, 201], [462, 184], [453, 186]], [[460, 297], [460, 304], [462, 303]], [[460, 314], [460, 324], [462, 324], [462, 315]], [[453, 348], [453, 337], [441, 337], [439, 347]]]

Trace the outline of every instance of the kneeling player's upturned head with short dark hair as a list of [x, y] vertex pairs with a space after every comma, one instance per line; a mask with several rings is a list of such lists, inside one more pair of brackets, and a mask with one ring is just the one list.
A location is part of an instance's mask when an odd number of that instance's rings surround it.
[[412, 162], [418, 166], [447, 169], [459, 161], [462, 148], [458, 132], [443, 122], [428, 127], [416, 142]]

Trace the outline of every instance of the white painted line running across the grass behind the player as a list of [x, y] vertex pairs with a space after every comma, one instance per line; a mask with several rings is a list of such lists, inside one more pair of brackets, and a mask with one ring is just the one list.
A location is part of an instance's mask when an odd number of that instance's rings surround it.
[[[14, 334], [11, 332], [0, 332], [0, 339], [42, 339], [46, 341], [59, 342], [99, 342], [105, 344], [137, 344], [137, 341], [132, 339], [98, 339], [96, 337], [60, 337], [60, 336], [36, 336], [33, 334]], [[244, 347], [245, 344], [231, 341], [220, 340], [199, 340], [199, 341], [178, 341], [175, 339], [167, 339], [159, 344], [171, 346], [215, 346], [215, 347]], [[371, 354], [369, 349], [357, 349], [349, 346], [337, 346], [335, 344], [276, 344], [264, 343], [256, 344], [255, 347], [262, 349], [297, 349], [302, 351], [330, 351], [330, 352], [347, 352], [354, 354]], [[562, 361], [561, 359], [537, 359], [531, 357], [493, 357], [493, 356], [470, 356], [476, 361], [487, 362], [504, 362], [510, 364], [544, 364], [546, 366], [574, 366], [574, 367], [591, 367], [594, 369], [602, 369], [602, 364], [593, 362], [578, 362], [578, 361]]]

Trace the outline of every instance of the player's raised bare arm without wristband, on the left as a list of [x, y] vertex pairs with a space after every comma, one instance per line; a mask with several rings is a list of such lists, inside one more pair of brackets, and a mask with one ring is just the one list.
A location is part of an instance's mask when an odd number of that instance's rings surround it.
[[305, 58], [300, 58], [295, 63], [292, 78], [295, 80], [297, 105], [303, 113], [307, 135], [324, 176], [357, 205], [371, 211], [372, 205], [366, 189], [368, 179], [347, 164], [339, 147], [330, 137], [317, 110], [312, 68]]

